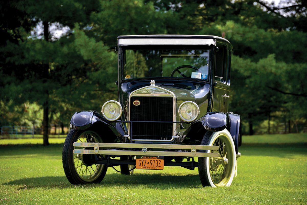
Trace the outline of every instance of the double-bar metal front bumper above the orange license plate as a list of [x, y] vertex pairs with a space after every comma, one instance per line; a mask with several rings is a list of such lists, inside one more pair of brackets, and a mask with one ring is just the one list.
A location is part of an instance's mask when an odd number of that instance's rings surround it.
[[[102, 154], [102, 155], [142, 155], [142, 156], [173, 156], [173, 157], [219, 157], [218, 153], [210, 153], [210, 150], [218, 150], [219, 146], [210, 145], [167, 145], [167, 144], [137, 144], [137, 143], [90, 143], [74, 142], [74, 154]], [[85, 149], [86, 147], [93, 149]], [[122, 150], [122, 149], [142, 149]], [[178, 151], [151, 151], [151, 149], [175, 149]], [[207, 153], [200, 150], [209, 150]]]

